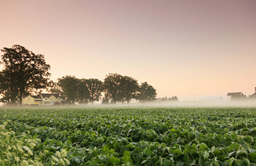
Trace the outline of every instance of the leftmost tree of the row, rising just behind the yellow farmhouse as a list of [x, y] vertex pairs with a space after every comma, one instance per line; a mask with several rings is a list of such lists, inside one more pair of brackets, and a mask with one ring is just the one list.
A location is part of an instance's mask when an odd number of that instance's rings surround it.
[[79, 80], [75, 76], [63, 76], [53, 83], [50, 92], [58, 92], [68, 103], [75, 103], [78, 99]]

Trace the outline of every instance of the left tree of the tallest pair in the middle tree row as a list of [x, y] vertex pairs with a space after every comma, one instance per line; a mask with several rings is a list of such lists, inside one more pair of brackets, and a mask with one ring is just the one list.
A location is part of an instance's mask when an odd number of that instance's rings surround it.
[[105, 96], [111, 99], [114, 104], [122, 100], [119, 94], [121, 79], [122, 76], [117, 73], [108, 73], [104, 79], [103, 86]]

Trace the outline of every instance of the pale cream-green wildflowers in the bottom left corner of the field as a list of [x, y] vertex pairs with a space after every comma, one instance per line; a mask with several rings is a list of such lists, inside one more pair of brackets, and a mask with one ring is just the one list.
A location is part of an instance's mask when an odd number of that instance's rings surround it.
[[29, 138], [29, 135], [25, 133], [18, 134], [9, 131], [5, 128], [7, 124], [8, 120], [0, 125], [1, 166], [43, 166], [48, 164], [65, 166], [70, 163], [66, 158], [67, 151], [65, 149], [62, 148], [50, 157], [46, 157], [49, 154], [48, 150], [34, 151], [35, 147], [36, 149], [39, 148], [38, 145], [41, 143], [41, 140]]

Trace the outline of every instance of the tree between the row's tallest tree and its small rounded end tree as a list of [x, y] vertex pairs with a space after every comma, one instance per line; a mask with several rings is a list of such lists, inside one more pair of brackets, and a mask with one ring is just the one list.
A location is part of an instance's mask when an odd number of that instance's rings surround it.
[[132, 99], [136, 99], [136, 94], [139, 92], [139, 84], [136, 79], [128, 76], [122, 76], [119, 84], [119, 98], [121, 98], [122, 104], [126, 101], [127, 104]]

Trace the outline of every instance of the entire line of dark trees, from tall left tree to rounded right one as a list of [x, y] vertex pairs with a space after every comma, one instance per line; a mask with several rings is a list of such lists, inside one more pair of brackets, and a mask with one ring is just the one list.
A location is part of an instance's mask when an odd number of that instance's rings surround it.
[[64, 76], [57, 82], [50, 80], [50, 65], [46, 64], [44, 55], [34, 54], [23, 46], [4, 47], [0, 64], [0, 102], [14, 104], [19, 96], [20, 106], [23, 95], [39, 93], [47, 89], [59, 93], [68, 103], [129, 103], [132, 100], [152, 102], [156, 100], [156, 89], [147, 82], [138, 81], [129, 76], [109, 73], [104, 81], [99, 79], [78, 79]]

